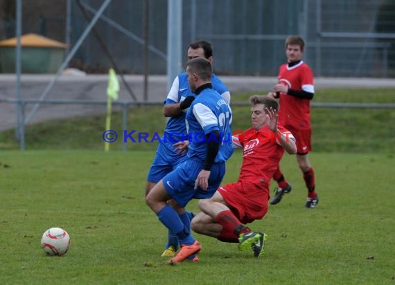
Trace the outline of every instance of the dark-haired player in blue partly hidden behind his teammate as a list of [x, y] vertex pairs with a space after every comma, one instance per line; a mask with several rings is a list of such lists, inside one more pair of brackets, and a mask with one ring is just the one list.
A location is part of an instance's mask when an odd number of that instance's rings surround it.
[[[213, 63], [213, 47], [206, 41], [191, 42], [187, 51], [188, 59], [204, 57]], [[222, 98], [229, 104], [230, 93], [225, 84], [216, 76], [212, 75], [211, 84], [213, 89], [222, 95]], [[158, 183], [166, 174], [173, 171], [175, 167], [186, 159], [185, 145], [177, 142], [185, 139], [186, 134], [185, 115], [188, 107], [195, 100], [195, 94], [188, 85], [188, 77], [185, 72], [179, 73], [171, 86], [166, 101], [164, 102], [164, 116], [169, 117], [164, 136], [159, 141], [157, 153], [150, 167], [147, 177], [146, 195], [152, 187]], [[162, 253], [164, 257], [175, 255], [179, 241], [175, 234], [169, 232], [168, 242]]]

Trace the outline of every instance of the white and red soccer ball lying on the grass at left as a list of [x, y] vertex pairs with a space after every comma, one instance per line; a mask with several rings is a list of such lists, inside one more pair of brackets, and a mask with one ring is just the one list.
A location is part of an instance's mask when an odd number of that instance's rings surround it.
[[41, 248], [47, 255], [64, 255], [70, 247], [70, 236], [62, 228], [50, 228], [42, 235]]

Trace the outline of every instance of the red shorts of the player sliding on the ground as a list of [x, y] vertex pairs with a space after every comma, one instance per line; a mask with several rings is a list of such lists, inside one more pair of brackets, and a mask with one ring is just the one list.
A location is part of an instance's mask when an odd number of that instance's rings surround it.
[[228, 183], [218, 188], [231, 212], [242, 222], [252, 223], [267, 213], [269, 189], [266, 184], [249, 182]]

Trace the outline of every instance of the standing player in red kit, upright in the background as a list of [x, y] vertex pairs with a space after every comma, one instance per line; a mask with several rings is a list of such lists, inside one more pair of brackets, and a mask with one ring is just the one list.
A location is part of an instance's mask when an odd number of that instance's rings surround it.
[[[279, 98], [279, 122], [289, 129], [297, 141], [297, 163], [308, 190], [306, 208], [315, 208], [319, 199], [315, 191], [315, 176], [313, 167], [308, 160], [311, 148], [310, 100], [314, 96], [313, 72], [301, 60], [304, 53], [304, 40], [299, 36], [286, 39], [286, 55], [288, 63], [280, 66], [279, 83], [274, 86], [274, 92], [269, 95]], [[270, 204], [277, 204], [283, 194], [289, 193], [292, 187], [284, 178], [280, 167], [273, 176], [279, 187]]]

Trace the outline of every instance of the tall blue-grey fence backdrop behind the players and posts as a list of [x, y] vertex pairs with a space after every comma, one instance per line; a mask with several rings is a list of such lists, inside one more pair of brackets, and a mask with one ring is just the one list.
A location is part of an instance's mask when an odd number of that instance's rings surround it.
[[[93, 13], [100, 3], [82, 1]], [[72, 2], [71, 42], [87, 25]], [[97, 28], [119, 66], [143, 72], [143, 1], [112, 1]], [[150, 73], [166, 73], [167, 1], [150, 1]], [[286, 60], [283, 42], [299, 34], [304, 59], [317, 76], [395, 77], [395, 1], [393, 0], [184, 0], [183, 58], [189, 42], [213, 43], [217, 73], [277, 75]], [[74, 64], [94, 70], [109, 66], [90, 35]]]

